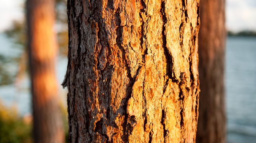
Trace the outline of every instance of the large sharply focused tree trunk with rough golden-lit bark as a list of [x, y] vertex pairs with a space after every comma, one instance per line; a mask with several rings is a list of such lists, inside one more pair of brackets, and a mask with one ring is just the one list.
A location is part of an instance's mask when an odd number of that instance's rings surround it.
[[198, 7], [68, 0], [70, 142], [195, 142]]

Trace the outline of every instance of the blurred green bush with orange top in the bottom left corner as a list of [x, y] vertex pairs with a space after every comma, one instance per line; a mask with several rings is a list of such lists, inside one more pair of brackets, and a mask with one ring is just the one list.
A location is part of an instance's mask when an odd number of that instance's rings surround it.
[[32, 126], [0, 103], [0, 143], [32, 143]]

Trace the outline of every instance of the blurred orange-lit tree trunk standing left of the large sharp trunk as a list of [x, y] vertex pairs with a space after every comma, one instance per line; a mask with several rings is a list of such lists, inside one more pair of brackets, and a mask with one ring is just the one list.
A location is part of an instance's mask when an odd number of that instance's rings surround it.
[[54, 0], [27, 0], [28, 48], [33, 95], [34, 140], [64, 142], [55, 77], [57, 42]]

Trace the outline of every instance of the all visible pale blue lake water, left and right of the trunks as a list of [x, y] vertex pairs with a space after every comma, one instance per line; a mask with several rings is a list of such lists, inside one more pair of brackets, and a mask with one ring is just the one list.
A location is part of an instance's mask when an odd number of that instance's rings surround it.
[[[0, 34], [0, 54], [19, 53], [11, 41]], [[18, 52], [17, 52], [18, 51]], [[57, 59], [56, 73], [61, 83], [67, 58]], [[11, 67], [15, 71], [15, 67]], [[7, 106], [15, 104], [20, 114], [31, 113], [30, 85], [27, 75], [19, 89], [14, 85], [0, 86], [0, 100]], [[226, 42], [226, 113], [229, 143], [256, 143], [256, 38], [234, 37]], [[66, 100], [66, 89], [59, 85]]]

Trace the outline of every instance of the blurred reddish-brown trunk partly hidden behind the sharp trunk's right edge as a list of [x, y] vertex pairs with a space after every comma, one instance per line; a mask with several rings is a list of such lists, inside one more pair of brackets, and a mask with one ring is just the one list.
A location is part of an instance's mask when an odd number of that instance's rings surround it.
[[200, 1], [198, 143], [224, 143], [225, 0]]

